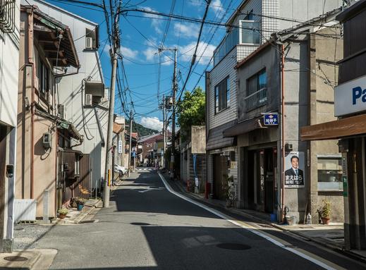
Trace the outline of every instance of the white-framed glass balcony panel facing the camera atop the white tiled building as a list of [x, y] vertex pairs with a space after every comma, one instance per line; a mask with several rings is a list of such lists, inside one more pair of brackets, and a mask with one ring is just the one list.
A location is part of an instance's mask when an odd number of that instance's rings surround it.
[[239, 26], [241, 44], [260, 44], [260, 22], [254, 20], [253, 11], [240, 20]]

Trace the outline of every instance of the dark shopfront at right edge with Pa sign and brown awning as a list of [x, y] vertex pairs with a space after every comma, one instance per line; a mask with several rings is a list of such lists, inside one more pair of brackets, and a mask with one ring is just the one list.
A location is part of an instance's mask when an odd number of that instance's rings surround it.
[[358, 1], [336, 18], [343, 23], [343, 59], [334, 94], [335, 121], [308, 125], [302, 140], [337, 140], [342, 155], [344, 239], [346, 250], [366, 250], [365, 134], [366, 1]]

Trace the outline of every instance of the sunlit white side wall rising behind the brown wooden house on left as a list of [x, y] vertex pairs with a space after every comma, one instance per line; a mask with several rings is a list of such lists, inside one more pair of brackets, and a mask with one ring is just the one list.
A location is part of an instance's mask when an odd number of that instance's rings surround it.
[[[104, 177], [105, 171], [105, 147], [106, 133], [108, 128], [108, 102], [104, 102], [104, 109], [84, 108], [85, 89], [83, 82], [87, 79], [93, 82], [103, 82], [101, 64], [98, 51], [85, 50], [85, 30], [94, 30], [97, 23], [76, 16], [73, 13], [64, 11], [62, 8], [48, 4], [40, 0], [21, 0], [22, 4], [35, 4], [39, 10], [67, 25], [73, 35], [75, 49], [80, 61], [78, 74], [61, 77], [59, 79], [59, 104], [66, 107], [66, 120], [75, 125], [81, 135], [84, 135], [82, 145], [73, 147], [84, 154], [90, 154], [92, 168], [92, 188], [95, 183], [99, 185], [100, 179]], [[67, 73], [76, 72], [77, 68], [68, 67]], [[107, 92], [104, 92], [105, 97]], [[57, 99], [56, 99], [57, 101]], [[100, 130], [98, 124], [100, 121]], [[75, 142], [73, 142], [75, 145]]]

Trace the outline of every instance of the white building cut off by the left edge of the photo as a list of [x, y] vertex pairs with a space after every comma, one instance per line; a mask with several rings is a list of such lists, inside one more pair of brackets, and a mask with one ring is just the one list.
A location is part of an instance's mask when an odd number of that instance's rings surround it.
[[19, 1], [0, 2], [0, 252], [11, 252], [16, 179]]

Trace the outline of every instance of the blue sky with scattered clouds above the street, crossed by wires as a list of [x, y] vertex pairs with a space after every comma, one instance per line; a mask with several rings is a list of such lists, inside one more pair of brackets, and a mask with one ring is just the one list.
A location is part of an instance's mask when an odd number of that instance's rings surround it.
[[[75, 6], [75, 4], [63, 4], [61, 1], [47, 0], [51, 4], [61, 6], [79, 16], [83, 16], [94, 23], [100, 24], [100, 47], [102, 67], [106, 86], [111, 83], [111, 62], [109, 58], [109, 44], [106, 35], [106, 23], [104, 13], [94, 11], [90, 6]], [[114, 3], [114, 1], [112, 1]], [[169, 13], [173, 0], [125, 0], [123, 5], [128, 8], [143, 8], [150, 11]], [[225, 23], [240, 0], [212, 0], [207, 14], [207, 20]], [[102, 1], [94, 0], [94, 3]], [[109, 1], [106, 1], [109, 3]], [[138, 6], [135, 6], [138, 5]], [[205, 0], [176, 0], [173, 14], [190, 18], [202, 18], [205, 13]], [[129, 12], [121, 16], [121, 54], [124, 56], [123, 63], [126, 70], [126, 77], [130, 91], [126, 92], [135, 104], [135, 121], [143, 125], [161, 130], [162, 113], [158, 110], [158, 88], [159, 97], [171, 95], [171, 82], [173, 78], [173, 52], [165, 51], [161, 54], [160, 80], [159, 80], [159, 55], [157, 47], [161, 44], [168, 20], [164, 17], [150, 15], [147, 13]], [[192, 59], [198, 33], [199, 23], [189, 23], [184, 20], [171, 19], [168, 31], [166, 32], [164, 47], [178, 47], [178, 92], [183, 87], [187, 77], [188, 68]], [[200, 75], [204, 73], [215, 47], [224, 37], [225, 27], [216, 25], [205, 25], [197, 51], [197, 66], [194, 66], [192, 75], [188, 80], [186, 90], [192, 90], [197, 84]], [[200, 56], [202, 56], [200, 58]], [[210, 70], [211, 67], [208, 68]], [[122, 75], [122, 72], [121, 72]], [[158, 84], [160, 81], [160, 84]], [[127, 83], [125, 82], [125, 85]], [[205, 75], [202, 76], [198, 85], [205, 89]], [[116, 92], [115, 113], [124, 115], [121, 109], [121, 100]], [[130, 108], [130, 104], [128, 104]]]

